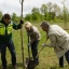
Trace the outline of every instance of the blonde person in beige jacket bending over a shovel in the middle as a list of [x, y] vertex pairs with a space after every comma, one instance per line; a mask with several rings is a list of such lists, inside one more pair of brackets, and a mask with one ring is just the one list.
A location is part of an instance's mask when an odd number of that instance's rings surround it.
[[39, 65], [39, 57], [38, 55], [38, 44], [41, 39], [41, 34], [36, 26], [32, 26], [31, 23], [26, 22], [25, 23], [25, 29], [27, 31], [27, 34], [30, 37], [30, 42], [28, 43], [29, 46], [31, 46], [31, 53], [33, 57], [33, 61], [36, 65]]

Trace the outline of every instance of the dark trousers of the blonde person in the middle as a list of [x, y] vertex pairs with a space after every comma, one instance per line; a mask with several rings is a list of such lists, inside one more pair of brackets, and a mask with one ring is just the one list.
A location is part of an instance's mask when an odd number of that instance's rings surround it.
[[34, 41], [31, 44], [32, 57], [33, 57], [33, 60], [37, 61], [37, 63], [39, 63], [39, 57], [37, 57], [37, 55], [38, 55], [38, 44], [39, 44], [39, 41]]

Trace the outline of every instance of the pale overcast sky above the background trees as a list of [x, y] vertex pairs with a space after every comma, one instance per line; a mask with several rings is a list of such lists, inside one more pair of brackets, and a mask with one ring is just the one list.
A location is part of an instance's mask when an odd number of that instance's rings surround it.
[[[47, 2], [56, 3], [59, 6], [61, 5], [63, 0], [24, 0], [24, 15], [30, 13], [32, 8], [40, 8], [43, 3], [46, 4]], [[67, 0], [67, 5], [69, 4], [69, 0]], [[19, 0], [0, 0], [0, 11], [3, 13], [13, 12], [17, 15], [20, 15], [20, 3]]]

